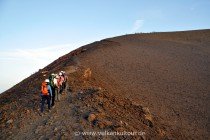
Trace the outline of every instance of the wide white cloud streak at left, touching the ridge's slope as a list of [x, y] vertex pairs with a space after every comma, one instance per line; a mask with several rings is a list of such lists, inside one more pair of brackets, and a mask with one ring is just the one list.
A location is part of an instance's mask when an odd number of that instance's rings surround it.
[[10, 61], [14, 63], [30, 62], [30, 65], [43, 67], [58, 57], [70, 52], [72, 45], [61, 44], [34, 49], [16, 49], [0, 52], [0, 61]]

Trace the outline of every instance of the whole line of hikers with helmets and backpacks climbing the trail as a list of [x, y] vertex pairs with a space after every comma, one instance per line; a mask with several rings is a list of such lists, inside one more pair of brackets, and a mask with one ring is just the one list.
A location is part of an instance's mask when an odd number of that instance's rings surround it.
[[48, 109], [55, 107], [55, 101], [60, 101], [60, 96], [67, 93], [68, 76], [65, 71], [60, 71], [58, 74], [50, 74], [48, 79], [45, 79], [41, 85], [41, 113], [44, 111], [44, 105], [47, 101]]

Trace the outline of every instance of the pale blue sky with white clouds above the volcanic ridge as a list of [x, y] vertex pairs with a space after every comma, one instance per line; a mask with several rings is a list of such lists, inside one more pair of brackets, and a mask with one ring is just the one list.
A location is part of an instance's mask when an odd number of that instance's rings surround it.
[[210, 0], [0, 0], [0, 93], [94, 41], [210, 29], [209, 7]]

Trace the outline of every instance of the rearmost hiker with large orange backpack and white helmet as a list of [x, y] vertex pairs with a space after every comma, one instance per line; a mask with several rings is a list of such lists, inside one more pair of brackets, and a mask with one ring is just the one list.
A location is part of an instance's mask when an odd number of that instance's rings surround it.
[[41, 97], [42, 97], [42, 101], [41, 101], [41, 113], [43, 113], [44, 111], [44, 105], [45, 105], [45, 101], [47, 100], [47, 104], [48, 104], [48, 109], [50, 111], [50, 98], [52, 96], [52, 90], [51, 87], [49, 85], [49, 79], [45, 79], [44, 82], [42, 82], [42, 86], [41, 86]]

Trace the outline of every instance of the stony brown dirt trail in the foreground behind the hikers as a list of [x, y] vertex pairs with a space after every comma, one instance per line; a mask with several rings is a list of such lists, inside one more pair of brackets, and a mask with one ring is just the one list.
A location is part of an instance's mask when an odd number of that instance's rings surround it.
[[[60, 139], [64, 136], [71, 138], [73, 129], [78, 128], [72, 115], [71, 92], [61, 95], [61, 101], [56, 102], [56, 106], [48, 111], [45, 106], [44, 115], [41, 116], [39, 108], [28, 115], [23, 116], [22, 127], [18, 131], [13, 131], [8, 139]], [[37, 105], [36, 107], [39, 107]], [[17, 112], [18, 113], [18, 112]], [[15, 121], [15, 120], [14, 120]], [[67, 135], [68, 134], [68, 135]]]

